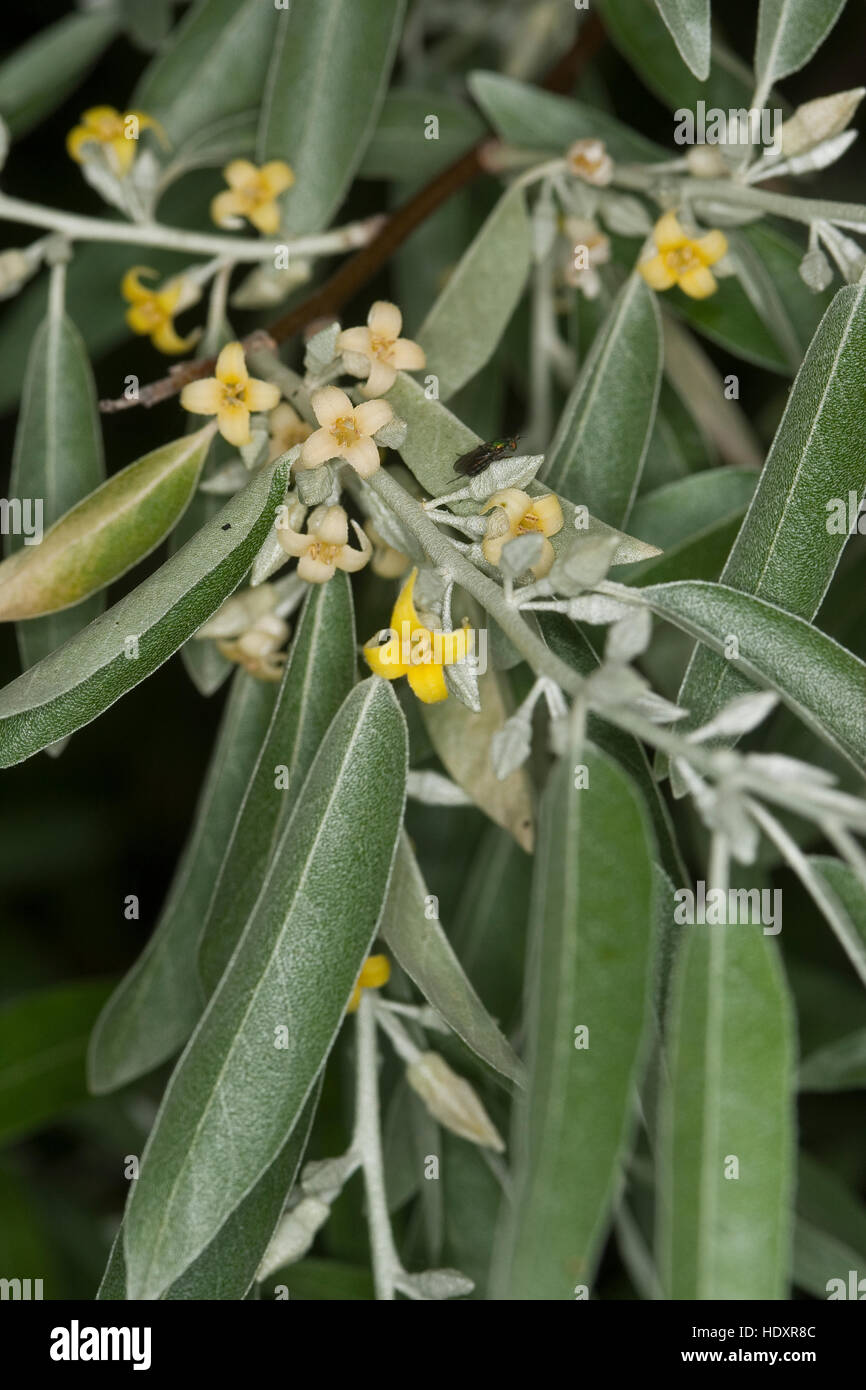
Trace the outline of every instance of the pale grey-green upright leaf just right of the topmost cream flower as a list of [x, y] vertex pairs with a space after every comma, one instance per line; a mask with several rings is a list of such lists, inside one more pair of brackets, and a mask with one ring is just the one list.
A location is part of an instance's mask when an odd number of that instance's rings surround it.
[[530, 272], [531, 235], [521, 188], [503, 193], [421, 324], [425, 373], [448, 400], [484, 367], [502, 338]]

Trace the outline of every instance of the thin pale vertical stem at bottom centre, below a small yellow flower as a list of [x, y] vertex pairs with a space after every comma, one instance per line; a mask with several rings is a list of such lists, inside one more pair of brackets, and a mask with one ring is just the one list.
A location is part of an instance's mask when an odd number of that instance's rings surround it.
[[375, 1029], [375, 1001], [370, 990], [361, 990], [357, 1006], [356, 1031], [356, 1086], [354, 1086], [354, 1137], [352, 1148], [360, 1154], [367, 1191], [367, 1226], [370, 1229], [370, 1254], [373, 1257], [373, 1282], [375, 1297], [381, 1302], [392, 1302], [395, 1286], [402, 1265], [388, 1215], [385, 1194], [385, 1162], [382, 1158], [382, 1131], [379, 1123], [379, 1081]]

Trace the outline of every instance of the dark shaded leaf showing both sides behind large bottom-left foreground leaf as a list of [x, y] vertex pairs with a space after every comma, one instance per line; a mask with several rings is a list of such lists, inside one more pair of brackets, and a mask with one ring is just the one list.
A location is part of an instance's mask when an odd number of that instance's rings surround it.
[[[321, 1079], [313, 1087], [300, 1119], [264, 1176], [235, 1208], [210, 1245], [160, 1294], [160, 1298], [236, 1301], [246, 1297], [295, 1184], [320, 1094]], [[108, 1265], [96, 1297], [103, 1302], [126, 1298], [122, 1227], [111, 1245]]]

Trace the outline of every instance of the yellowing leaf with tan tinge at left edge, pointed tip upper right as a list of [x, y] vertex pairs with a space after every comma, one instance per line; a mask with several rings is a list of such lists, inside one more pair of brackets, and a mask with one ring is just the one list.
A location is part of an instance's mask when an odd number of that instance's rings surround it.
[[213, 425], [146, 453], [107, 478], [0, 564], [0, 621], [81, 603], [164, 541], [193, 493]]

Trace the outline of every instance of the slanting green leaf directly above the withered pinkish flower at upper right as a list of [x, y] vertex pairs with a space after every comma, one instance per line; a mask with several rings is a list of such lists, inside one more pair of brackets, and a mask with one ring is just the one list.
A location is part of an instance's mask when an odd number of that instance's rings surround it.
[[499, 72], [470, 72], [468, 89], [488, 121], [507, 145], [563, 154], [574, 140], [603, 140], [614, 160], [667, 158], [662, 145], [653, 145], [621, 121], [596, 107], [570, 97], [542, 92], [527, 82]]

